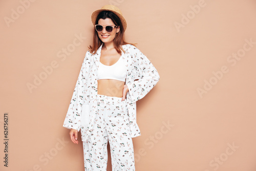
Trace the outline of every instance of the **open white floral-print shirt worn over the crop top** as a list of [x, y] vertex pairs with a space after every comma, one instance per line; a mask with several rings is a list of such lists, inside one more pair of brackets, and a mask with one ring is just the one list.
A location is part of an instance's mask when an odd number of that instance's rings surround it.
[[[87, 51], [63, 123], [63, 126], [68, 129], [81, 131], [82, 141], [87, 141], [93, 133], [95, 114], [98, 110], [97, 69], [102, 45], [94, 55]], [[122, 58], [127, 67], [125, 84], [129, 88], [125, 102], [127, 103], [130, 132], [126, 134], [130, 134], [134, 138], [141, 135], [136, 122], [136, 101], [150, 92], [160, 77], [151, 61], [139, 49], [130, 44], [122, 45], [122, 48], [125, 51], [125, 53], [122, 52]]]

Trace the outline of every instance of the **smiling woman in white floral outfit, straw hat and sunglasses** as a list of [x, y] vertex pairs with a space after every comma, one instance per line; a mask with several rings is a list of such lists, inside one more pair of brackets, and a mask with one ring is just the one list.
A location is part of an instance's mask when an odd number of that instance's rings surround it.
[[84, 169], [106, 170], [110, 143], [112, 169], [135, 170], [132, 138], [140, 136], [136, 101], [158, 82], [152, 63], [124, 41], [121, 11], [105, 5], [93, 12], [93, 46], [89, 47], [63, 126], [78, 143], [81, 130]]

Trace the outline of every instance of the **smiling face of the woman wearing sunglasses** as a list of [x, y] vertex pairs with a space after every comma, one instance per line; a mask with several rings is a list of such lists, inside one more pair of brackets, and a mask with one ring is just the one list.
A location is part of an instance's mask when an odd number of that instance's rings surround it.
[[[105, 19], [100, 18], [98, 24], [102, 25], [103, 27], [116, 26], [113, 23], [112, 19], [110, 18], [105, 18]], [[111, 33], [106, 32], [106, 29], [103, 28], [101, 32], [98, 32], [98, 36], [102, 42], [108, 43], [114, 40], [114, 38], [116, 37], [116, 33], [118, 33], [119, 31], [120, 31], [120, 27], [113, 28], [113, 31]]]

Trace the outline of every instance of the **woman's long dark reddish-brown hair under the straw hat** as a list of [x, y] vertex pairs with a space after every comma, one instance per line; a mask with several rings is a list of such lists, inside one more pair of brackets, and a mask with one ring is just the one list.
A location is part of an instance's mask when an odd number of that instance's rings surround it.
[[[124, 29], [123, 29], [123, 25], [121, 23], [120, 18], [111, 11], [101, 11], [96, 18], [96, 22], [95, 22], [96, 25], [98, 24], [99, 19], [101, 18], [102, 19], [110, 18], [116, 26], [120, 27], [120, 31], [116, 34], [116, 37], [114, 38], [114, 47], [119, 54], [121, 54], [121, 51], [125, 53], [125, 51], [122, 48], [122, 45], [127, 45], [130, 43], [126, 42], [124, 39]], [[102, 44], [102, 41], [100, 40], [97, 31], [94, 29], [93, 46], [90, 45], [88, 47], [90, 53], [95, 54], [101, 44]], [[131, 44], [131, 45], [136, 47], [135, 44]]]

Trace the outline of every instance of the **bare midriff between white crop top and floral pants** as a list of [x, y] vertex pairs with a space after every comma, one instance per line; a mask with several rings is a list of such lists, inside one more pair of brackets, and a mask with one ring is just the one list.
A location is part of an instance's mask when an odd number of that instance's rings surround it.
[[98, 94], [112, 97], [123, 97], [123, 81], [115, 79], [98, 80]]

